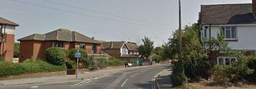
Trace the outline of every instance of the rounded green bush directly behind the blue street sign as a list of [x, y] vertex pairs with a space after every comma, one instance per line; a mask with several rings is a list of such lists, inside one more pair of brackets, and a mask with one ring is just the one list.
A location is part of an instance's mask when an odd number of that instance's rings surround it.
[[[70, 58], [71, 60], [77, 60], [75, 58], [75, 53], [77, 52], [77, 49], [71, 49], [68, 55], [68, 58]], [[81, 58], [80, 59], [86, 59], [88, 57], [86, 51], [82, 48], [79, 49], [79, 52], [81, 53]]]

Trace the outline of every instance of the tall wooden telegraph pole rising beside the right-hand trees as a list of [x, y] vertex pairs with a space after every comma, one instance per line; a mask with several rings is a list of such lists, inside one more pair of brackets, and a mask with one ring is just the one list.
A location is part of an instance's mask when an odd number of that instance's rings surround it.
[[182, 31], [181, 31], [181, 11], [180, 11], [180, 0], [179, 0], [179, 36], [180, 36], [180, 60], [181, 60], [181, 53], [182, 53]]

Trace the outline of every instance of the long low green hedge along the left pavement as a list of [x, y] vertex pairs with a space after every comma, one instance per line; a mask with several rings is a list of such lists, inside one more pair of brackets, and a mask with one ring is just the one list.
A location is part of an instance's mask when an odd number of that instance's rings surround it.
[[64, 71], [66, 66], [56, 66], [45, 61], [28, 60], [24, 63], [0, 61], [0, 76]]

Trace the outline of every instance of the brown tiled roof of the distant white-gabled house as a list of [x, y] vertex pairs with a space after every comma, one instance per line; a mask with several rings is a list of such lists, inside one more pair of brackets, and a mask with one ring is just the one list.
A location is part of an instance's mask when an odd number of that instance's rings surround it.
[[113, 43], [112, 48], [121, 48], [125, 41], [102, 42], [103, 48], [111, 48], [111, 43]]

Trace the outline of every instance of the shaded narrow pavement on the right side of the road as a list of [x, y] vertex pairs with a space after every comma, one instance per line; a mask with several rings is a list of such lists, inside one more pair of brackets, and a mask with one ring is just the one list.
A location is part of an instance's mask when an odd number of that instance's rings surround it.
[[172, 89], [171, 74], [172, 69], [166, 69], [158, 75], [156, 81], [158, 89]]

